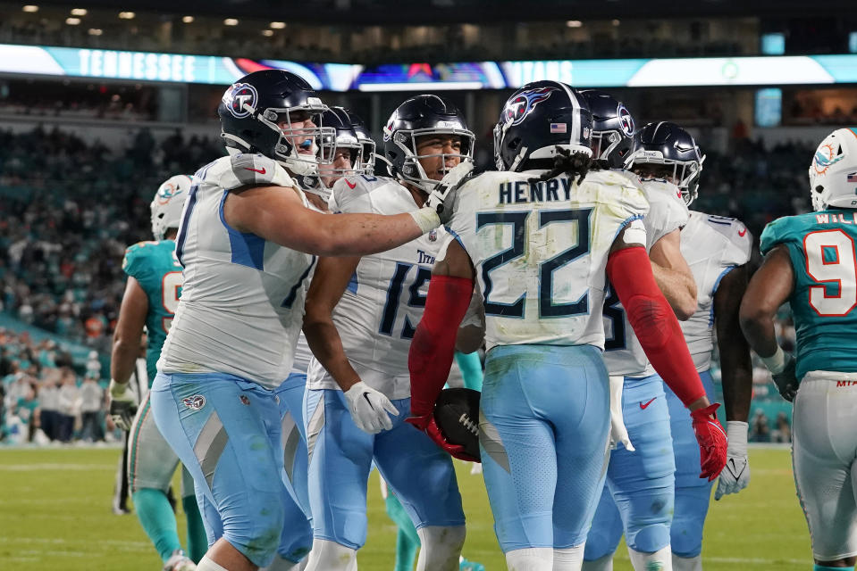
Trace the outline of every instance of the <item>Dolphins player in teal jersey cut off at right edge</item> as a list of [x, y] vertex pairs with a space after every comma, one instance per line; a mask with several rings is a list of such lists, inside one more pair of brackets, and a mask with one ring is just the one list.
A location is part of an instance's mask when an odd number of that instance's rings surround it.
[[[794, 484], [810, 527], [815, 571], [857, 560], [857, 128], [838, 128], [810, 164], [815, 212], [771, 222], [765, 256], [741, 302], [741, 327], [779, 393], [794, 401]], [[774, 317], [788, 302], [796, 348], [777, 344]]]

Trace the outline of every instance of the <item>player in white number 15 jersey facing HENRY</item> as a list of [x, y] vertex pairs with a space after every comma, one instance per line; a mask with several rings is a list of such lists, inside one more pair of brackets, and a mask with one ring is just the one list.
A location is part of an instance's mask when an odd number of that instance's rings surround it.
[[[401, 103], [384, 128], [391, 178], [340, 178], [332, 207], [391, 214], [424, 203], [448, 171], [472, 160], [473, 133], [437, 95]], [[422, 315], [446, 232], [363, 258], [322, 258], [307, 294], [310, 571], [355, 568], [366, 534], [366, 481], [374, 460], [424, 546], [417, 568], [458, 569], [464, 513], [450, 457], [404, 422], [407, 347]], [[389, 414], [388, 414], [389, 413]]]

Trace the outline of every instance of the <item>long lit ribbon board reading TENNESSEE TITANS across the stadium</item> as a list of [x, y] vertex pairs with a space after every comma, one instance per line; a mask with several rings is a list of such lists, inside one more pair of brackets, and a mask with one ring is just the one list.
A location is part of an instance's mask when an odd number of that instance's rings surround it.
[[365, 67], [0, 44], [0, 73], [7, 74], [229, 85], [251, 71], [267, 69], [290, 70], [315, 89], [340, 92], [516, 89], [539, 79], [555, 79], [575, 87], [781, 86], [857, 83], [857, 54], [390, 63]]

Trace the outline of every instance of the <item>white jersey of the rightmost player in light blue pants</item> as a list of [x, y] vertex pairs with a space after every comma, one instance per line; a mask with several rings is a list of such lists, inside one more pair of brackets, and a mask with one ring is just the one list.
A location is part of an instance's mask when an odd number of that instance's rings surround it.
[[682, 255], [696, 281], [696, 313], [682, 321], [687, 348], [696, 370], [710, 368], [714, 348], [714, 294], [720, 280], [750, 261], [752, 234], [740, 220], [691, 211], [682, 230]]

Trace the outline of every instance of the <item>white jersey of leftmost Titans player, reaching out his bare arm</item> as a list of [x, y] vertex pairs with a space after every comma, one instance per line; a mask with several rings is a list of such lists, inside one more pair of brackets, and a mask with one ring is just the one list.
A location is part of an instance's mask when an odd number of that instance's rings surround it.
[[158, 370], [231, 373], [276, 388], [291, 370], [315, 257], [231, 228], [223, 203], [240, 186], [294, 183], [259, 154], [222, 157], [193, 183], [176, 238], [184, 284]]

